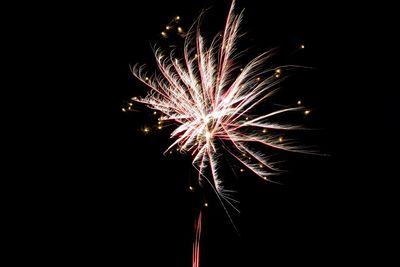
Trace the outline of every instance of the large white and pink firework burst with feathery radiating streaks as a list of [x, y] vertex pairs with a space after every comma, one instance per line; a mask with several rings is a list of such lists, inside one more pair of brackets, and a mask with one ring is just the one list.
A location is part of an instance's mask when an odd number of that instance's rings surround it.
[[254, 114], [255, 107], [277, 91], [277, 85], [283, 80], [282, 69], [292, 66], [265, 68], [273, 51], [262, 53], [240, 69], [234, 64], [242, 53], [237, 51], [236, 43], [241, 36], [239, 26], [243, 18], [243, 12], [236, 14], [234, 7], [233, 2], [224, 31], [208, 47], [198, 23], [186, 34], [182, 57], [175, 51], [168, 55], [154, 49], [156, 74], [147, 75], [144, 66], [132, 68], [133, 74], [150, 89], [146, 97], [135, 101], [160, 113], [161, 122], [177, 125], [171, 134], [176, 140], [166, 152], [175, 148], [190, 153], [199, 183], [207, 181], [212, 186], [227, 213], [224, 202], [236, 209], [237, 200], [219, 176], [219, 155], [225, 152], [233, 156], [243, 168], [270, 181], [270, 176], [279, 170], [254, 148], [255, 144], [301, 151], [290, 140], [271, 132], [299, 129], [272, 119], [278, 114], [303, 109], [285, 107], [268, 114]]

